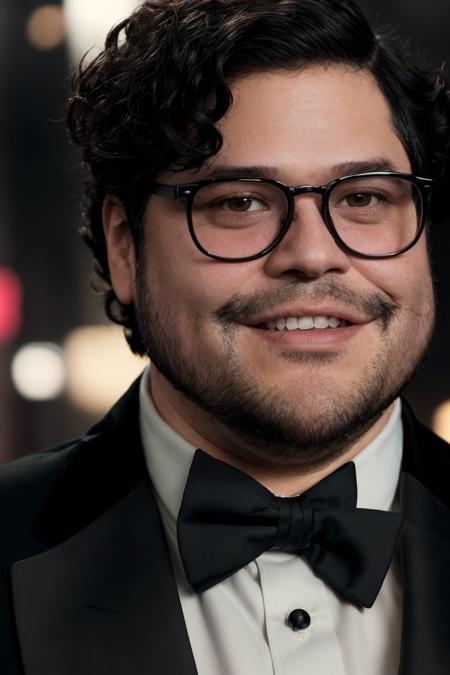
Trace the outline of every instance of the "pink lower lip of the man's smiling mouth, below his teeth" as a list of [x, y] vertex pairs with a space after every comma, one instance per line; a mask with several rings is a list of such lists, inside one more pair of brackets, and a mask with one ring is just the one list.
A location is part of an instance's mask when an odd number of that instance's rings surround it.
[[252, 328], [259, 337], [280, 347], [319, 351], [338, 347], [355, 337], [367, 324], [352, 324], [342, 328], [311, 328], [309, 330], [268, 330]]

